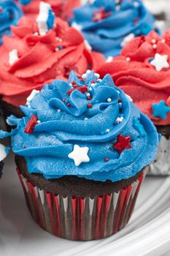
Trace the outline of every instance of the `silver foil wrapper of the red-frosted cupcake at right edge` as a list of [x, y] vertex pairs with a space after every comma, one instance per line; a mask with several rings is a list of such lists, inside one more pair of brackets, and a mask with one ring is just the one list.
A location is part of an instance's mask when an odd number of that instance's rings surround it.
[[168, 176], [170, 175], [170, 140], [162, 136], [158, 153], [150, 165], [148, 175]]

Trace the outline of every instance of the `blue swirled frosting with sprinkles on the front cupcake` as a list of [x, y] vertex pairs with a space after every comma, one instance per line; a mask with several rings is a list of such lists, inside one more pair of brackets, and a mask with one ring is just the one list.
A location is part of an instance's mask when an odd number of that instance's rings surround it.
[[[119, 181], [136, 175], [155, 157], [158, 133], [110, 75], [94, 72], [69, 83], [45, 85], [21, 107], [23, 118], [9, 117], [15, 154], [26, 158], [29, 173], [45, 178], [74, 175]], [[130, 100], [130, 101], [129, 101]]]

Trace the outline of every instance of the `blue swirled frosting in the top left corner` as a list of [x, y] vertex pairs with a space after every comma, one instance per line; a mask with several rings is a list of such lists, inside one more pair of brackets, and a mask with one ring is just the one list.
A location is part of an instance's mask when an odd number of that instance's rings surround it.
[[0, 1], [0, 45], [2, 37], [11, 34], [10, 26], [17, 25], [18, 20], [23, 15], [15, 1], [2, 0]]

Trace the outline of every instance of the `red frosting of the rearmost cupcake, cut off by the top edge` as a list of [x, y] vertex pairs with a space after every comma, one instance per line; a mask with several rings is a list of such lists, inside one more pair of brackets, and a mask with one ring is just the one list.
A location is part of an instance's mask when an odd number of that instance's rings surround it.
[[[30, 4], [22, 6], [23, 12], [31, 18], [36, 18], [39, 13], [39, 3], [41, 0], [32, 0]], [[72, 10], [80, 6], [80, 0], [44, 0], [53, 8], [57, 17], [64, 20], [72, 18]]]

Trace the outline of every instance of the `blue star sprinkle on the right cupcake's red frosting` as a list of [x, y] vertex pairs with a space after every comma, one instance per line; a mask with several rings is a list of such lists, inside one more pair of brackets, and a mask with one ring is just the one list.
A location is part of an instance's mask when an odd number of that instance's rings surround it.
[[161, 100], [158, 104], [152, 104], [153, 116], [166, 119], [167, 113], [170, 112], [170, 107], [166, 105], [164, 100]]

